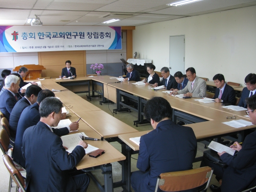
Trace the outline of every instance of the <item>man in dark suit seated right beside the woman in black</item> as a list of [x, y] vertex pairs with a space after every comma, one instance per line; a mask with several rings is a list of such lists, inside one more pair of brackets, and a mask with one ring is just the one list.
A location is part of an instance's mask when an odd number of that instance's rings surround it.
[[163, 76], [163, 80], [160, 83], [155, 83], [154, 87], [158, 87], [160, 85], [164, 85], [166, 90], [171, 90], [172, 88], [177, 89], [177, 82], [175, 78], [170, 74], [168, 67], [163, 67], [161, 70], [161, 74]]

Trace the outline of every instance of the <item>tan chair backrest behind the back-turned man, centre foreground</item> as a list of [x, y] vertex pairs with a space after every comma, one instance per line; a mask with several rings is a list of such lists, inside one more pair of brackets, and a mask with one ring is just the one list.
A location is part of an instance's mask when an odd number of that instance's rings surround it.
[[163, 191], [183, 191], [202, 186], [204, 183], [207, 183], [207, 186], [204, 188], [207, 189], [212, 173], [213, 169], [208, 166], [186, 171], [162, 173], [157, 178], [155, 191], [157, 191], [158, 186]]

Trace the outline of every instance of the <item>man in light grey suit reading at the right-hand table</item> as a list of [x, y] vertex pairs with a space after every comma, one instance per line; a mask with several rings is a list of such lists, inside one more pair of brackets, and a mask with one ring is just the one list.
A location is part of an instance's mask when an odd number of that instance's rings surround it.
[[189, 67], [186, 70], [186, 76], [189, 79], [188, 84], [183, 90], [172, 92], [173, 95], [184, 94], [188, 97], [205, 97], [206, 96], [206, 82], [195, 74], [195, 69]]

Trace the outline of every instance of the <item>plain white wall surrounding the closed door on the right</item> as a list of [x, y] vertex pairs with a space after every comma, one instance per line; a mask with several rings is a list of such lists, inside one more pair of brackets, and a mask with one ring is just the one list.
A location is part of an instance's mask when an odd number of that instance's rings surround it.
[[256, 73], [256, 6], [136, 26], [133, 52], [152, 59], [156, 70], [169, 67], [169, 36], [185, 35], [185, 70], [197, 75], [222, 73], [226, 81], [244, 84]]

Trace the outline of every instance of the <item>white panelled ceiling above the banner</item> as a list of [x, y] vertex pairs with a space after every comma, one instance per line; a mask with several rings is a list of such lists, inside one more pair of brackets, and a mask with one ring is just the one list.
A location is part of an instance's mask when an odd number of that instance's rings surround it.
[[[43, 25], [138, 26], [256, 5], [256, 0], [202, 0], [166, 6], [173, 2], [177, 0], [0, 0], [0, 25], [29, 25], [27, 18], [38, 15]], [[120, 21], [102, 23], [113, 18]]]

